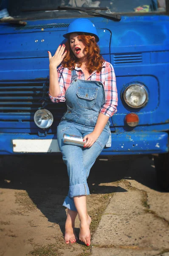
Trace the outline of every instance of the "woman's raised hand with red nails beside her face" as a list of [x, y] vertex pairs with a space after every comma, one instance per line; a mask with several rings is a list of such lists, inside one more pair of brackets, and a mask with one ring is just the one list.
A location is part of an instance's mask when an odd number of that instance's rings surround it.
[[65, 44], [61, 44], [59, 45], [59, 47], [57, 48], [54, 56], [51, 55], [51, 52], [48, 52], [49, 55], [49, 65], [52, 67], [57, 68], [62, 60], [65, 58], [65, 55], [67, 53], [67, 51], [65, 51]]

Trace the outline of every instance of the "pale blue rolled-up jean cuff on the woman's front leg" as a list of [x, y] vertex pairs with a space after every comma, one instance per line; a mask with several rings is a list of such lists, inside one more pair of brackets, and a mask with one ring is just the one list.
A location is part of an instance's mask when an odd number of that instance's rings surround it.
[[69, 187], [70, 198], [78, 195], [90, 195], [87, 183], [76, 184]]

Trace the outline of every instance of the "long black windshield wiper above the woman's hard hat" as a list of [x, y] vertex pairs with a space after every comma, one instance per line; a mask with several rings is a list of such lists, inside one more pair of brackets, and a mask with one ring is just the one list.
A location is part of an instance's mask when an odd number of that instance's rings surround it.
[[[92, 8], [93, 9], [93, 8]], [[84, 8], [84, 7], [71, 7], [71, 6], [58, 6], [58, 10], [75, 10], [75, 11], [80, 11], [80, 12], [87, 12], [89, 14], [96, 14], [99, 15], [101, 17], [107, 18], [109, 20], [121, 20], [121, 16], [118, 14], [114, 14], [114, 13], [100, 13], [100, 12], [95, 12], [95, 11], [91, 11], [90, 9]], [[99, 8], [97, 8], [97, 10], [100, 10]]]

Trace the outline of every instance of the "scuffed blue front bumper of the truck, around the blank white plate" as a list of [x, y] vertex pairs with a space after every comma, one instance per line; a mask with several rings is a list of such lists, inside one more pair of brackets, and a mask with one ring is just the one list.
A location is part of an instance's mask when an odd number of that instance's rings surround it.
[[[56, 135], [39, 137], [30, 134], [0, 134], [0, 154], [14, 154], [14, 139], [56, 139]], [[168, 134], [165, 132], [127, 132], [112, 134], [112, 147], [104, 148], [101, 155], [158, 154], [168, 152]], [[50, 153], [49, 153], [50, 154]], [[56, 154], [56, 153], [55, 153]]]

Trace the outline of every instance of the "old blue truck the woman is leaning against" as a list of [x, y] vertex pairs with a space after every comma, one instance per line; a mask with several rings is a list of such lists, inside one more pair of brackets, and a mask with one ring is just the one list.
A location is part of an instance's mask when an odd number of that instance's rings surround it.
[[70, 22], [86, 17], [113, 64], [118, 89], [112, 145], [101, 155], [154, 155], [158, 182], [169, 190], [169, 1], [1, 0], [4, 12], [0, 155], [60, 154], [56, 127], [67, 107], [48, 97], [48, 50], [54, 54]]

